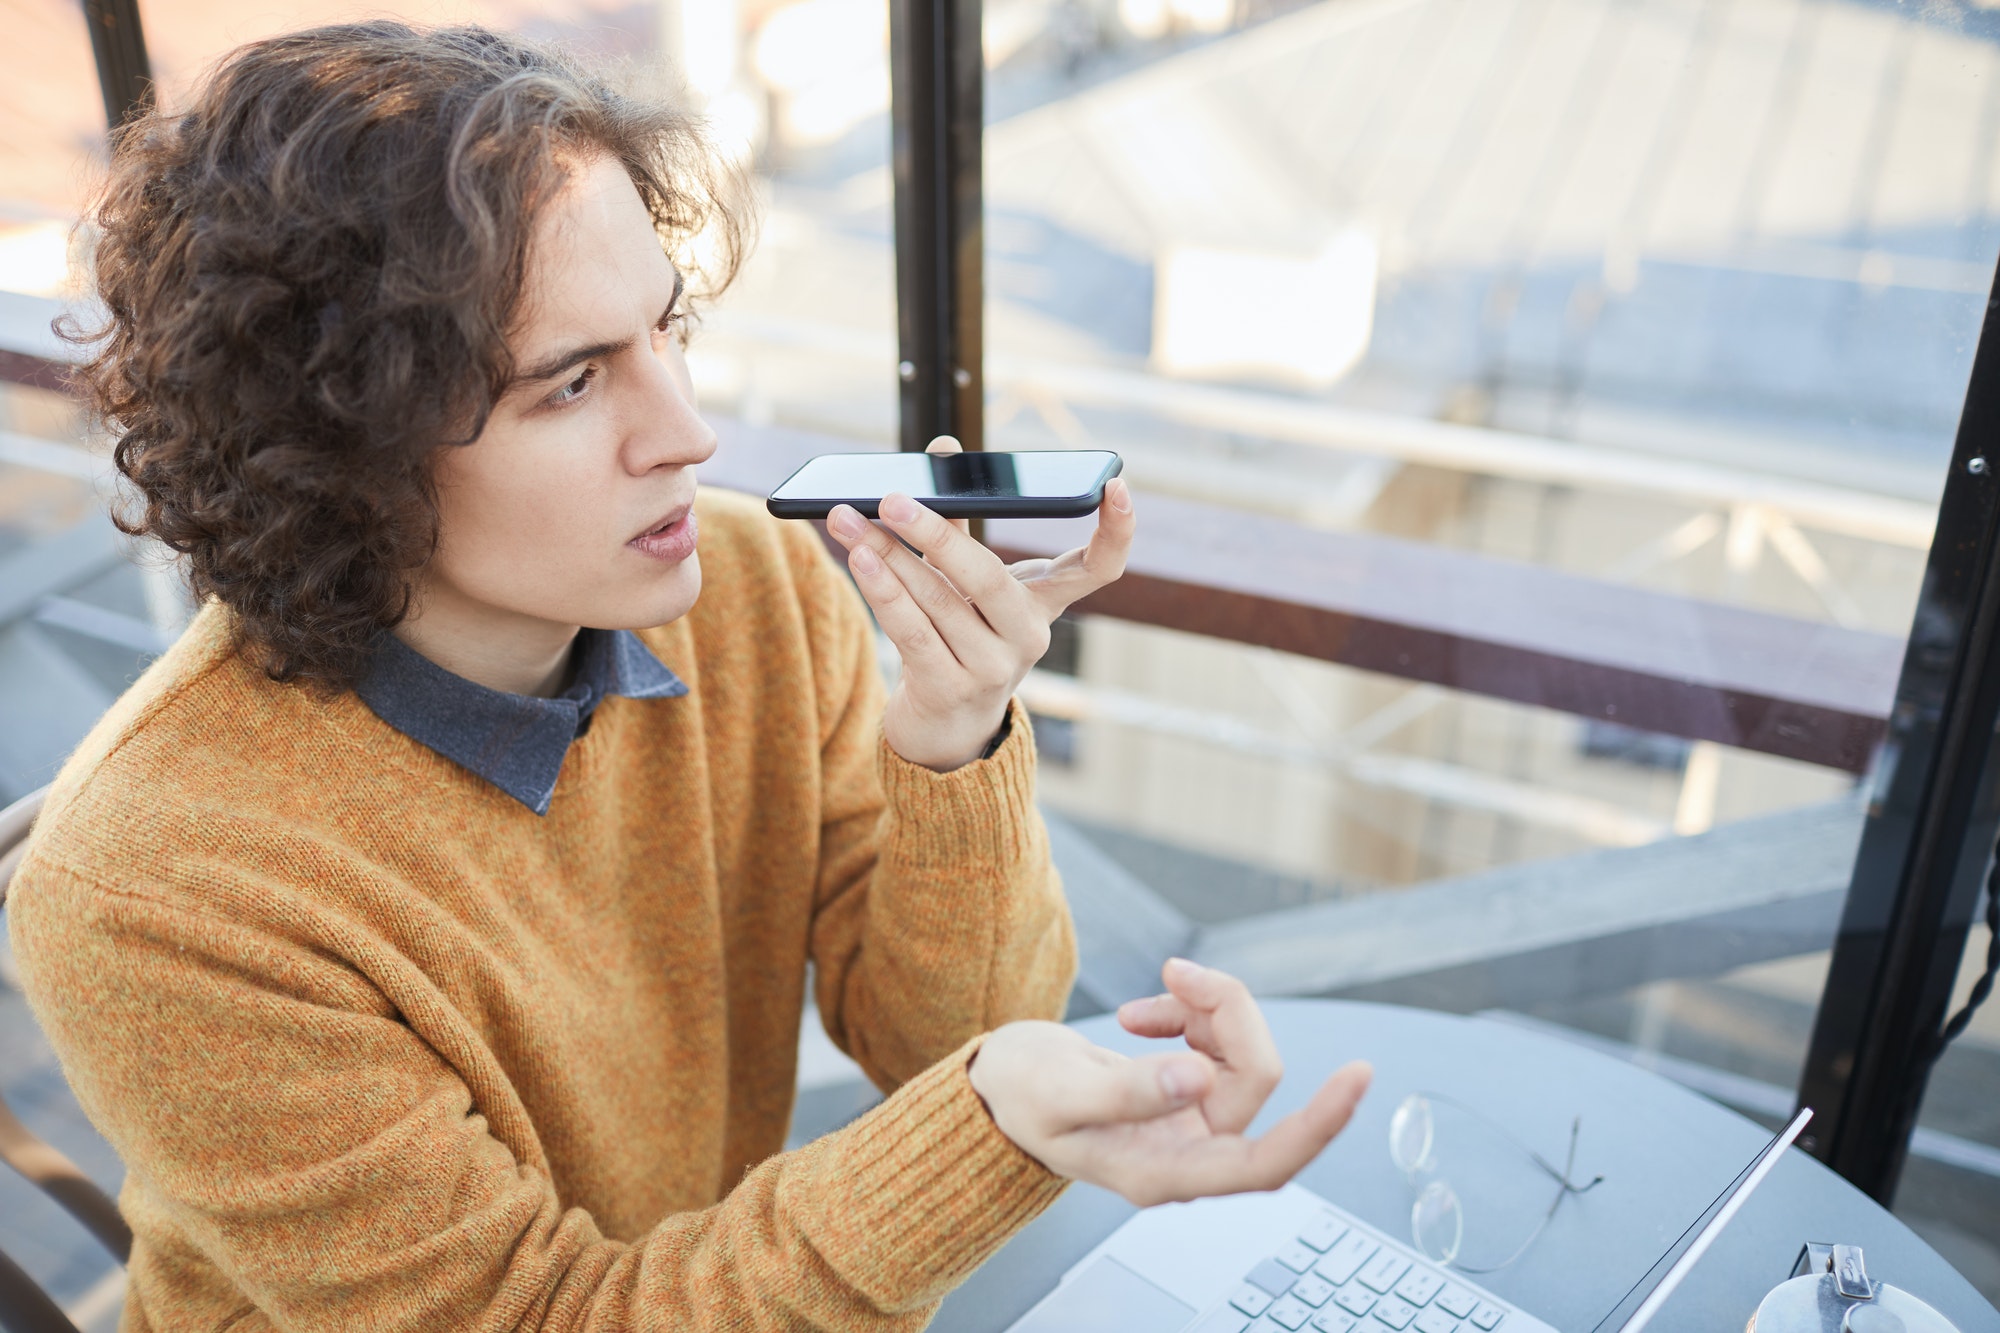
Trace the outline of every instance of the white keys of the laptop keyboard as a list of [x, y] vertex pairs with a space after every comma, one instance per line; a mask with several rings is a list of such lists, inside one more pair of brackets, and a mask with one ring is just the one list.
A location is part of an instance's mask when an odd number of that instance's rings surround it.
[[1506, 1333], [1508, 1307], [1324, 1213], [1188, 1333]]

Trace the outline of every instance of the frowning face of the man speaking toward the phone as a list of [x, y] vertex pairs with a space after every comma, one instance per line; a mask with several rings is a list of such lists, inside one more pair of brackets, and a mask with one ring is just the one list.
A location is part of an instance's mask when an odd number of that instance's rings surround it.
[[572, 166], [528, 252], [516, 380], [486, 430], [438, 454], [438, 552], [418, 614], [644, 628], [702, 590], [680, 278], [612, 158]]

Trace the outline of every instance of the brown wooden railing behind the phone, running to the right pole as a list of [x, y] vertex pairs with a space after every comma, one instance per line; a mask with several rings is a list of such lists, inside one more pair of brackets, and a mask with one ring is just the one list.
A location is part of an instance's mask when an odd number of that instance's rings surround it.
[[[850, 440], [718, 420], [704, 480], [766, 492]], [[1390, 536], [1140, 494], [1126, 576], [1078, 610], [1862, 773], [1902, 664], [1888, 634]], [[1082, 520], [994, 520], [1008, 558]]]

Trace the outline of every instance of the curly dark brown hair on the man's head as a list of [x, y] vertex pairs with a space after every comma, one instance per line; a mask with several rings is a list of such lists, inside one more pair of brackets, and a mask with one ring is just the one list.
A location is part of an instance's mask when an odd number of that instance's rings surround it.
[[180, 552], [272, 679], [350, 687], [408, 612], [436, 450], [484, 428], [538, 210], [596, 154], [718, 292], [742, 194], [700, 124], [516, 36], [292, 32], [118, 132], [76, 382], [142, 500], [120, 526]]

